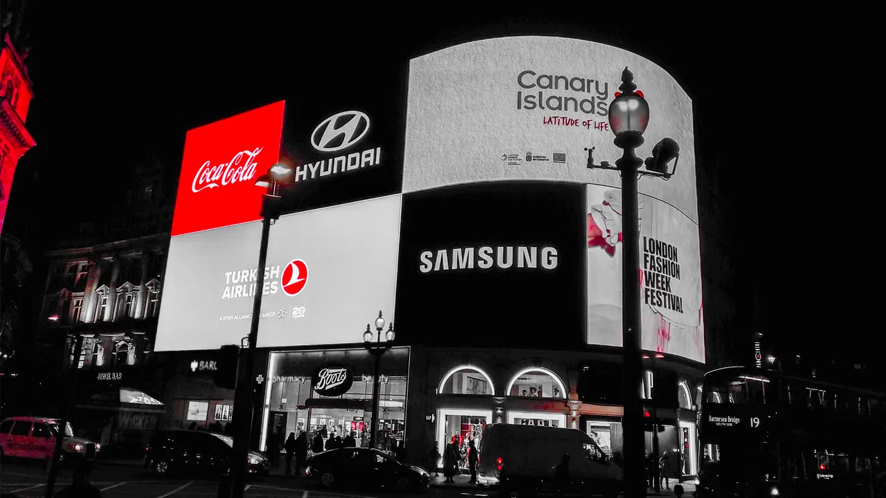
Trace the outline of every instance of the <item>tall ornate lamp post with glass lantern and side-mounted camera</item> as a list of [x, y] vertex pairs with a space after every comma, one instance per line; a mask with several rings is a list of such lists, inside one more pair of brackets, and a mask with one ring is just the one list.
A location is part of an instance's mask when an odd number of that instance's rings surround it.
[[[643, 402], [641, 385], [643, 371], [641, 364], [641, 315], [640, 315], [640, 222], [638, 213], [637, 176], [659, 176], [668, 180], [677, 169], [677, 161], [671, 171], [668, 163], [680, 156], [680, 146], [672, 138], [664, 138], [652, 149], [652, 157], [644, 163], [634, 153], [643, 144], [643, 132], [649, 125], [649, 104], [627, 67], [621, 74], [620, 90], [610, 104], [609, 121], [615, 133], [615, 144], [624, 153], [610, 166], [608, 161], [595, 164], [593, 148], [587, 156], [588, 168], [613, 169], [621, 173], [622, 195], [622, 353], [625, 363], [625, 411], [622, 416], [624, 428], [625, 496], [639, 498], [646, 496], [643, 454], [645, 436], [643, 433]], [[679, 159], [678, 159], [679, 160]]]

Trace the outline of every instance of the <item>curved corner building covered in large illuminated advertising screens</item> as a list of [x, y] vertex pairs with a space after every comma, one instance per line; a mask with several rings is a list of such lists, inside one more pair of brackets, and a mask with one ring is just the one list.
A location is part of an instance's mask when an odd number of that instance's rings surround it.
[[[405, 444], [434, 466], [435, 442], [482, 442], [486, 424], [505, 423], [579, 429], [618, 454], [621, 192], [617, 173], [587, 165], [620, 155], [608, 106], [626, 65], [655, 109], [638, 153], [664, 136], [681, 151], [669, 182], [640, 187], [637, 390], [674, 472], [695, 474], [707, 358], [691, 101], [649, 60], [556, 37], [456, 45], [365, 87], [323, 82], [335, 101], [190, 130], [156, 342], [176, 365], [163, 424], [230, 422], [233, 393], [200, 372], [242, 344], [261, 292], [261, 449], [303, 431], [323, 447]], [[292, 176], [258, 270], [253, 183], [275, 163]]]

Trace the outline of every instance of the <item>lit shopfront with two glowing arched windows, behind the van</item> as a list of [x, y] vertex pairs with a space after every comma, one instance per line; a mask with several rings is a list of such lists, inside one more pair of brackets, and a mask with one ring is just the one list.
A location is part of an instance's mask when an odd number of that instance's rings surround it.
[[[472, 365], [460, 365], [444, 375], [437, 388], [436, 440], [441, 453], [444, 444], [455, 440], [461, 448], [460, 466], [467, 469], [467, 449], [470, 440], [479, 447], [486, 424], [508, 424], [566, 427], [565, 407], [557, 404], [557, 411], [549, 411], [549, 400], [564, 399], [563, 381], [553, 371], [529, 367], [513, 374], [506, 389], [505, 405], [496, 405], [494, 396], [501, 396], [492, 377]], [[546, 401], [542, 401], [546, 400]], [[543, 408], [540, 408], [543, 407]], [[438, 462], [438, 466], [442, 462]]]

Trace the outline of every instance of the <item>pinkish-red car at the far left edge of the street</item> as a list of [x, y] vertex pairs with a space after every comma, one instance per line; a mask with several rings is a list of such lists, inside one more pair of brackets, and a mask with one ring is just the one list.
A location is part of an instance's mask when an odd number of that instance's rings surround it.
[[[15, 456], [51, 460], [56, 438], [61, 432], [60, 422], [46, 416], [11, 416], [0, 422], [0, 457]], [[71, 424], [66, 424], [62, 440], [61, 460], [71, 458], [94, 458], [101, 445], [75, 438]]]

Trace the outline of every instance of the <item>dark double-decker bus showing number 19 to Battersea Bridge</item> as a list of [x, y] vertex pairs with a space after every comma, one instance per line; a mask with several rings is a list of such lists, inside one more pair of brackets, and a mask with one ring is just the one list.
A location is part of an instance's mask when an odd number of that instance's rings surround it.
[[886, 396], [772, 370], [704, 376], [699, 498], [882, 497]]

